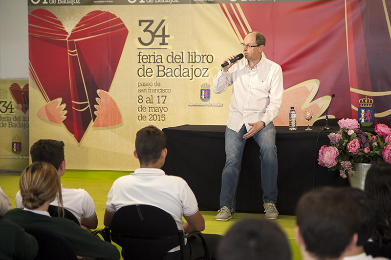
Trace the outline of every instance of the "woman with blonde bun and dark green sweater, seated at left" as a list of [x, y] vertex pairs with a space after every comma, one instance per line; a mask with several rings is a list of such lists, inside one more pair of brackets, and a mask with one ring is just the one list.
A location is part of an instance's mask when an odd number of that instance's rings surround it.
[[[12, 209], [4, 218], [21, 227], [42, 227], [65, 237], [82, 257], [118, 260], [118, 249], [99, 237], [91, 235], [80, 225], [64, 218], [50, 217], [47, 209], [50, 202], [58, 197], [62, 207], [61, 182], [57, 170], [47, 162], [34, 162], [22, 172], [19, 180], [24, 209]], [[62, 216], [63, 214], [60, 214]]]

